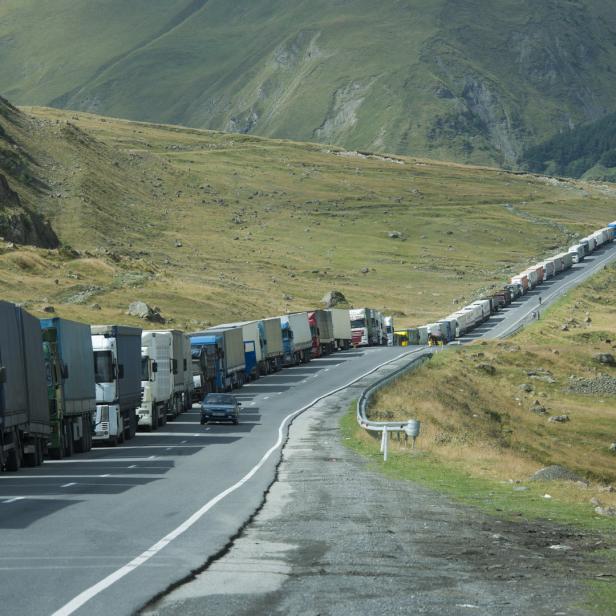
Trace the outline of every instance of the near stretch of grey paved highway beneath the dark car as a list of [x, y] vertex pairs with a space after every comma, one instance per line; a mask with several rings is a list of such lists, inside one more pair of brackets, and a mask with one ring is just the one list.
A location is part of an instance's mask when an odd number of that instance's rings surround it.
[[134, 612], [258, 509], [294, 412], [405, 352], [337, 353], [262, 378], [236, 392], [237, 426], [201, 426], [195, 407], [124, 446], [2, 474], [2, 612]]

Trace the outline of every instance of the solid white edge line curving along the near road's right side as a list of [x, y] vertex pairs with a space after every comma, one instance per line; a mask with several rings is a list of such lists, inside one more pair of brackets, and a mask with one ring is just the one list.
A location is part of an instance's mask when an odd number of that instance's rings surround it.
[[142, 552], [141, 554], [139, 554], [139, 556], [133, 558], [133, 560], [131, 560], [129, 563], [127, 563], [123, 567], [120, 567], [119, 569], [117, 569], [116, 571], [108, 575], [107, 577], [103, 578], [100, 582], [97, 582], [96, 584], [90, 586], [89, 588], [86, 588], [84, 591], [79, 593], [76, 597], [71, 599], [68, 603], [63, 605], [58, 610], [56, 610], [52, 614], [52, 616], [70, 616], [70, 614], [73, 614], [75, 611], [77, 611], [80, 607], [82, 607], [88, 601], [90, 601], [91, 599], [99, 595], [101, 592], [103, 592], [104, 590], [106, 590], [107, 588], [115, 584], [118, 580], [121, 580], [122, 578], [126, 577], [129, 573], [137, 569], [137, 567], [142, 566], [144, 563], [148, 562], [151, 558], [156, 556], [161, 550], [166, 548], [172, 541], [177, 539], [180, 535], [184, 534], [189, 528], [191, 528], [194, 524], [196, 524], [210, 509], [212, 509], [212, 507], [217, 505], [220, 501], [226, 498], [229, 494], [232, 494], [236, 490], [239, 490], [239, 488], [241, 488], [244, 484], [250, 481], [250, 479], [252, 479], [252, 477], [254, 477], [256, 473], [264, 466], [267, 460], [269, 460], [271, 455], [282, 445], [283, 440], [284, 440], [284, 428], [292, 419], [294, 419], [295, 417], [297, 417], [298, 415], [300, 415], [301, 413], [303, 413], [310, 407], [314, 406], [317, 402], [320, 402], [321, 400], [328, 398], [329, 396], [335, 393], [338, 393], [339, 391], [342, 391], [343, 389], [346, 389], [347, 387], [350, 387], [354, 383], [357, 383], [361, 379], [376, 372], [383, 366], [391, 364], [394, 361], [401, 359], [402, 357], [411, 355], [416, 352], [417, 351], [401, 353], [395, 358], [390, 359], [386, 362], [383, 362], [382, 364], [379, 364], [378, 366], [376, 366], [375, 368], [372, 368], [368, 372], [365, 372], [364, 374], [354, 378], [353, 380], [349, 381], [345, 385], [342, 385], [341, 387], [337, 387], [336, 389], [333, 389], [325, 394], [322, 394], [321, 396], [315, 398], [314, 400], [312, 400], [305, 406], [299, 408], [296, 411], [293, 411], [292, 413], [289, 413], [278, 426], [278, 438], [276, 439], [276, 442], [263, 454], [263, 457], [259, 460], [259, 462], [255, 466], [253, 466], [253, 468], [246, 475], [244, 475], [239, 481], [229, 486], [226, 490], [223, 490], [222, 492], [220, 492], [220, 494], [218, 494], [214, 498], [207, 501], [200, 509], [195, 511], [195, 513], [193, 513], [189, 518], [187, 518], [184, 522], [182, 522], [182, 524], [180, 524], [177, 528], [175, 528], [170, 533], [165, 535], [162, 539], [157, 541], [154, 545], [148, 548], [145, 552]]

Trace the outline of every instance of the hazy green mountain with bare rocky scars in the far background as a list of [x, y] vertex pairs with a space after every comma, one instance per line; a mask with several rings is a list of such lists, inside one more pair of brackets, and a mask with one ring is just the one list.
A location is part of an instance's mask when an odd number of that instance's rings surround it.
[[514, 164], [614, 110], [608, 0], [4, 0], [19, 104]]

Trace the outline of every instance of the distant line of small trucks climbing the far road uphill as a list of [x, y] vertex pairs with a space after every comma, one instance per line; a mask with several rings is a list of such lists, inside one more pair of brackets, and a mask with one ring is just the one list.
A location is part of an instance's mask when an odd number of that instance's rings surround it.
[[615, 237], [616, 221], [581, 239], [567, 252], [554, 255], [512, 276], [509, 284], [489, 297], [472, 302], [435, 323], [396, 331], [394, 344], [401, 346], [447, 344], [460, 338], [545, 280], [571, 269], [574, 263], [581, 263], [597, 248], [614, 241]]

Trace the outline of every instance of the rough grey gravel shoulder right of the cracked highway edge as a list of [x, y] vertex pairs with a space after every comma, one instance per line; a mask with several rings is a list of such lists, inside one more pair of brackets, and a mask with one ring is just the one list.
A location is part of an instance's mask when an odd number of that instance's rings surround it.
[[143, 616], [590, 616], [576, 604], [595, 537], [483, 515], [344, 447], [340, 416], [375, 377], [294, 422], [233, 548]]

